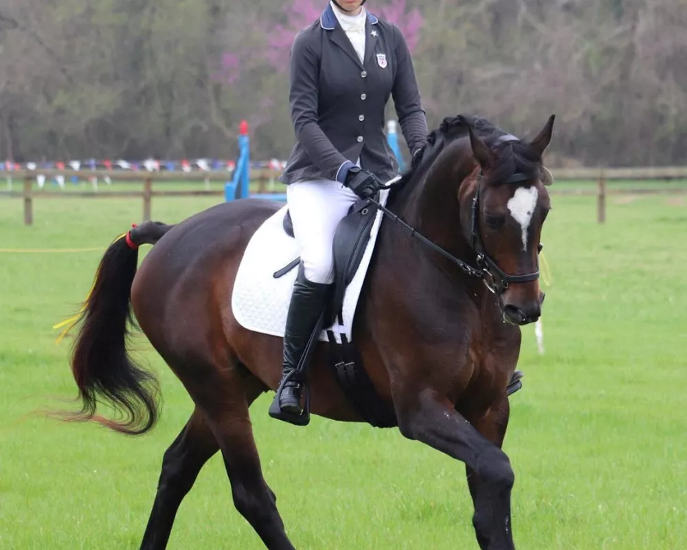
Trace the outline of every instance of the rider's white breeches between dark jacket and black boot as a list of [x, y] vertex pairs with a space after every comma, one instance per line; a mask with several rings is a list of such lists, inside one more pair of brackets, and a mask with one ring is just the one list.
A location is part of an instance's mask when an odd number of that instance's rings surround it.
[[334, 233], [357, 199], [352, 190], [331, 179], [295, 181], [286, 188], [293, 235], [308, 281], [333, 283]]

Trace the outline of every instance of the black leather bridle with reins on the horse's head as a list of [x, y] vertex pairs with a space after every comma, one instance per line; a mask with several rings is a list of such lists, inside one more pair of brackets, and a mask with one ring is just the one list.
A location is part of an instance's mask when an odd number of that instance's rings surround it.
[[[522, 173], [515, 173], [511, 177], [506, 180], [506, 184], [511, 184], [511, 183], [517, 183], [519, 181], [525, 181], [526, 179], [530, 179], [530, 177], [522, 174]], [[389, 184], [386, 186], [382, 186], [382, 189], [390, 189], [392, 188], [393, 184]], [[475, 251], [475, 254], [477, 254], [477, 269], [475, 267], [472, 267], [468, 263], [465, 263], [464, 261], [456, 258], [453, 256], [453, 254], [447, 252], [443, 248], [441, 248], [439, 245], [436, 245], [429, 239], [427, 239], [426, 236], [424, 236], [421, 233], [418, 233], [418, 231], [415, 228], [412, 228], [410, 225], [405, 223], [401, 218], [399, 218], [394, 212], [383, 206], [379, 201], [376, 201], [376, 199], [369, 199], [371, 203], [373, 203], [381, 212], [388, 218], [392, 219], [394, 223], [397, 223], [398, 225], [401, 225], [402, 228], [410, 232], [410, 236], [414, 236], [420, 243], [423, 243], [423, 245], [427, 246], [430, 250], [433, 250], [434, 252], [438, 252], [444, 258], [447, 260], [451, 261], [451, 263], [457, 265], [460, 270], [466, 274], [467, 276], [471, 278], [480, 278], [482, 279], [482, 282], [486, 287], [496, 296], [500, 296], [503, 294], [506, 289], [508, 288], [508, 285], [510, 283], [528, 283], [530, 281], [536, 281], [539, 278], [539, 259], [537, 259], [537, 271], [532, 272], [532, 273], [526, 273], [526, 274], [515, 274], [511, 275], [504, 270], [502, 270], [497, 263], [494, 261], [494, 259], [489, 256], [489, 254], [486, 252], [484, 248], [484, 244], [482, 243], [482, 236], [480, 235], [480, 190], [482, 188], [482, 170], [480, 170], [480, 175], [479, 179], [477, 180], [477, 191], [475, 192], [475, 197], [473, 197], [473, 202], [471, 206], [471, 221], [470, 221], [470, 227], [471, 227], [471, 247]], [[543, 248], [543, 245], [539, 243], [537, 246], [537, 253], [541, 252], [541, 249]]]

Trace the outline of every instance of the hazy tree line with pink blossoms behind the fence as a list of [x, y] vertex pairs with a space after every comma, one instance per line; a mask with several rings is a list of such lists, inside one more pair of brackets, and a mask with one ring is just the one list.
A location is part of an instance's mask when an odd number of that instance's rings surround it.
[[[289, 45], [324, 0], [3, 0], [0, 159], [286, 158]], [[684, 164], [684, 0], [368, 0], [404, 31], [430, 128], [480, 113], [552, 165]], [[394, 116], [393, 104], [388, 115]]]

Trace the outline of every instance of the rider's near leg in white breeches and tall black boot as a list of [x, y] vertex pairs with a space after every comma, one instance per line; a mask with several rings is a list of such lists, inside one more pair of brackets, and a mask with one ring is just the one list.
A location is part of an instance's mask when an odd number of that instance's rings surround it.
[[304, 349], [326, 307], [328, 291], [334, 281], [332, 242], [339, 221], [348, 214], [356, 195], [339, 182], [328, 179], [298, 181], [286, 188], [286, 200], [293, 221], [293, 234], [300, 247], [298, 270], [284, 332], [280, 408], [286, 415], [273, 417], [287, 420], [302, 412], [300, 399], [304, 380], [295, 372]]

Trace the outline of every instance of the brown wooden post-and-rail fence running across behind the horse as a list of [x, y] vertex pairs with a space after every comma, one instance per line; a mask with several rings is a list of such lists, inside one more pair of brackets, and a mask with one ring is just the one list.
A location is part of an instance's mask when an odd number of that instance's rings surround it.
[[[606, 198], [607, 195], [634, 194], [634, 195], [654, 195], [659, 193], [687, 193], [687, 185], [679, 187], [666, 187], [660, 184], [649, 184], [642, 188], [632, 186], [631, 188], [609, 188], [609, 181], [671, 181], [686, 180], [687, 166], [677, 168], [566, 168], [552, 169], [554, 180], [557, 183], [563, 181], [596, 181], [596, 188], [565, 188], [556, 185], [550, 188], [552, 195], [596, 195], [597, 197], [597, 219], [603, 223], [606, 219]], [[41, 190], [34, 192], [34, 181], [37, 175], [43, 175], [46, 181], [54, 177], [63, 176], [65, 179], [77, 177], [89, 180], [98, 178], [99, 180], [110, 178], [112, 181], [120, 183], [143, 183], [143, 190], [111, 190], [111, 191], [66, 191], [66, 190]], [[269, 168], [251, 169], [251, 182], [258, 184], [258, 192], [264, 193], [268, 181], [274, 181], [279, 173]], [[168, 182], [188, 182], [188, 181], [222, 181], [227, 182], [232, 179], [232, 174], [227, 171], [207, 171], [207, 172], [182, 172], [182, 171], [125, 171], [125, 170], [15, 170], [12, 172], [0, 172], [0, 179], [12, 177], [23, 181], [21, 191], [0, 191], [0, 197], [17, 197], [24, 201], [24, 223], [33, 223], [33, 201], [34, 198], [63, 199], [68, 197], [88, 197], [93, 199], [105, 199], [108, 197], [139, 197], [143, 199], [143, 219], [150, 219], [151, 203], [153, 197], [220, 197], [225, 195], [224, 190], [194, 189], [194, 190], [155, 190], [154, 183], [161, 181]], [[264, 195], [269, 197], [269, 195]]]

